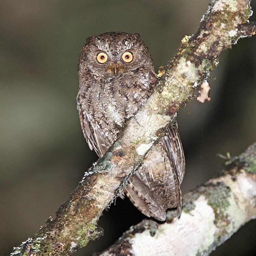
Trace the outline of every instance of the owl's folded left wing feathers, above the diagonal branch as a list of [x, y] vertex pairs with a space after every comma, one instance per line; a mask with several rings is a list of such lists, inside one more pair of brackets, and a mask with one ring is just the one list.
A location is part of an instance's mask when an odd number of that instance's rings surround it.
[[79, 109], [80, 123], [84, 133], [84, 137], [89, 145], [90, 150], [95, 150], [99, 157], [102, 157], [109, 148], [109, 143], [103, 138], [101, 132], [96, 125], [88, 122], [88, 117], [84, 110], [77, 105]]

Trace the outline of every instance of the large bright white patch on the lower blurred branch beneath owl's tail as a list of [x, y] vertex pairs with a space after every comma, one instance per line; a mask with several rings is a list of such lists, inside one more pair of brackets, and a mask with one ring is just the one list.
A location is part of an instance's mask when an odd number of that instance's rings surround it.
[[[217, 232], [214, 211], [207, 203], [205, 197], [200, 196], [195, 201], [194, 210], [182, 212], [180, 219], [172, 224], [159, 225], [153, 237], [149, 230], [136, 234], [131, 239], [133, 255], [192, 256], [207, 250], [214, 242], [214, 234]], [[179, 246], [180, 244], [183, 246]]]

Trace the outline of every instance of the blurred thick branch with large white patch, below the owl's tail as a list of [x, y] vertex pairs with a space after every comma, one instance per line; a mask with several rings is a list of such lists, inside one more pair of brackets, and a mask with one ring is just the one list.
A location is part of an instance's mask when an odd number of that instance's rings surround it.
[[256, 218], [256, 143], [226, 169], [184, 196], [179, 219], [169, 212], [164, 224], [144, 220], [99, 256], [209, 255]]

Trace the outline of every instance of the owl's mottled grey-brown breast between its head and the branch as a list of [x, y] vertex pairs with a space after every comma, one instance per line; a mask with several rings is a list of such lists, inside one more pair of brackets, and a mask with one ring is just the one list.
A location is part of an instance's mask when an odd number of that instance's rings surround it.
[[83, 98], [83, 111], [95, 121], [104, 139], [112, 144], [126, 120], [138, 111], [152, 93], [155, 80], [154, 73], [140, 70], [117, 77], [92, 78], [86, 81], [86, 87], [81, 88], [77, 101]]

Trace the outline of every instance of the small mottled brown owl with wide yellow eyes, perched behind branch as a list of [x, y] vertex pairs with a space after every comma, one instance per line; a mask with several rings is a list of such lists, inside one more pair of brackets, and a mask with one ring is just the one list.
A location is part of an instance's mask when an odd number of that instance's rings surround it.
[[[108, 32], [87, 38], [78, 63], [77, 109], [84, 137], [102, 157], [155, 89], [157, 75], [139, 34]], [[185, 159], [177, 124], [146, 154], [125, 188], [146, 216], [166, 219], [166, 209], [181, 213]]]

